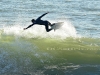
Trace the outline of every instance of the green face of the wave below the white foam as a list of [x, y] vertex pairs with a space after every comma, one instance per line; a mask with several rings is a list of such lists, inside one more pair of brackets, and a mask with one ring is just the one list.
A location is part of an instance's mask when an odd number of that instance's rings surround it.
[[25, 38], [1, 34], [1, 73], [77, 75], [87, 70], [95, 73], [99, 70], [96, 65], [100, 65], [99, 42], [94, 38]]

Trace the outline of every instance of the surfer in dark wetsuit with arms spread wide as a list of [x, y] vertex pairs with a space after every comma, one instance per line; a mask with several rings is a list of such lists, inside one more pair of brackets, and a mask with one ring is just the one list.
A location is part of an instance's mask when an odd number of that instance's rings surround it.
[[52, 28], [49, 29], [49, 26], [52, 26], [52, 24], [51, 24], [49, 21], [43, 21], [43, 20], [41, 20], [41, 18], [42, 18], [43, 16], [45, 16], [46, 14], [48, 14], [48, 13], [49, 13], [49, 12], [44, 13], [43, 15], [41, 15], [40, 17], [38, 17], [36, 20], [35, 20], [35, 19], [32, 19], [32, 20], [31, 20], [31, 21], [32, 21], [32, 24], [29, 25], [28, 27], [24, 28], [24, 30], [30, 28], [31, 26], [33, 26], [33, 25], [35, 25], [35, 24], [39, 24], [39, 25], [44, 25], [47, 32], [51, 31]]

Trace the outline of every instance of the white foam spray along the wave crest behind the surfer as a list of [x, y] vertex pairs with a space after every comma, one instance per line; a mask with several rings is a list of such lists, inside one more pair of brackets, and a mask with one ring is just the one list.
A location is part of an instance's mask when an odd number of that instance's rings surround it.
[[[58, 21], [57, 21], [58, 22]], [[23, 30], [23, 26], [15, 25], [4, 28], [4, 33], [7, 35], [14, 35], [18, 37], [26, 38], [66, 38], [66, 37], [76, 37], [75, 27], [71, 24], [70, 21], [59, 21], [64, 22], [64, 25], [54, 31], [46, 32], [45, 26], [43, 25], [34, 25], [33, 27]], [[55, 23], [52, 21], [52, 23]]]

